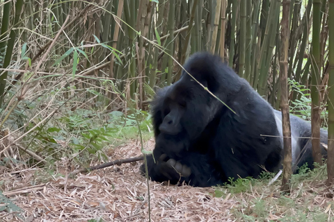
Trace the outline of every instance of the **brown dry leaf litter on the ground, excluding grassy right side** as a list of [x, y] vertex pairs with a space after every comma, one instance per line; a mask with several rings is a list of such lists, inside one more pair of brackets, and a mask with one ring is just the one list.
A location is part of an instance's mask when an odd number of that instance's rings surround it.
[[[145, 144], [152, 149], [154, 141]], [[110, 160], [141, 155], [140, 146], [132, 142], [113, 149]], [[40, 182], [38, 168], [2, 172], [1, 187], [22, 208], [25, 221], [234, 221], [230, 210], [237, 204], [230, 196], [215, 198], [212, 188], [175, 187], [149, 182], [139, 173], [142, 162], [122, 164], [79, 174], [76, 178], [55, 177]], [[58, 167], [66, 175], [66, 167]], [[62, 170], [63, 169], [63, 170]], [[53, 175], [55, 175], [54, 173]], [[0, 221], [16, 221], [14, 214], [1, 212]]]

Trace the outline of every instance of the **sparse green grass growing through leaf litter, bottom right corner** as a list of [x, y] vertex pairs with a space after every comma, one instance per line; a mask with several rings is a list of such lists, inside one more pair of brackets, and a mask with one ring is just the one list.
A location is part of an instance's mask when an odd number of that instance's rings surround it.
[[[292, 193], [280, 193], [281, 181], [269, 185], [273, 173], [263, 173], [258, 180], [238, 179], [225, 187], [217, 187], [214, 196], [233, 198], [237, 205], [232, 214], [242, 221], [328, 221], [328, 210], [334, 210], [333, 201], [328, 201], [326, 211], [319, 201], [325, 187], [326, 167], [310, 171], [306, 167], [292, 176]], [[232, 194], [232, 195], [230, 195]], [[329, 220], [331, 221], [331, 220]]]

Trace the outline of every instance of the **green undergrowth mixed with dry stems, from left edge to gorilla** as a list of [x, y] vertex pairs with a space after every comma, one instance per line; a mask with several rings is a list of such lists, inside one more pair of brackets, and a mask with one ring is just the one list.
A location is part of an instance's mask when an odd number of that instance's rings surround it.
[[[13, 168], [43, 164], [53, 170], [53, 164], [65, 158], [73, 167], [82, 167], [92, 161], [109, 160], [113, 148], [129, 139], [138, 139], [138, 128], [143, 139], [152, 137], [150, 114], [143, 110], [128, 109], [125, 114], [97, 108], [69, 110], [61, 107], [54, 114], [40, 112], [31, 118], [34, 114], [31, 109], [18, 106], [6, 121], [6, 130], [0, 131], [8, 135], [0, 135], [3, 144], [17, 144], [18, 137], [22, 141], [21, 151], [15, 145], [10, 146], [8, 157], [1, 159], [0, 164], [10, 164]], [[23, 149], [40, 158], [26, 155]]]

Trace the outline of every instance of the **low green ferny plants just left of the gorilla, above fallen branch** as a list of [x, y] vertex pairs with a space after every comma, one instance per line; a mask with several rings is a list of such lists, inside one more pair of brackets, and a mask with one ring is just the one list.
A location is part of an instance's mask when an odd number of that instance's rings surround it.
[[[53, 159], [64, 155], [74, 157], [81, 164], [90, 162], [92, 156], [107, 160], [104, 148], [113, 148], [137, 138], [137, 121], [144, 139], [152, 136], [148, 112], [141, 110], [127, 115], [119, 111], [102, 114], [93, 110], [75, 110], [56, 120], [57, 125], [45, 126], [35, 137], [49, 148], [42, 152], [52, 153]], [[65, 151], [59, 151], [60, 144], [66, 146]]]

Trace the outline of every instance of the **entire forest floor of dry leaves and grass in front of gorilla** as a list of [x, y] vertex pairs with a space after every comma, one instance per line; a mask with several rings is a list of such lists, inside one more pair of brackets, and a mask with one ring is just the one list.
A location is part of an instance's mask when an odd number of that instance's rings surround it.
[[[153, 139], [145, 144], [147, 149], [153, 146]], [[109, 154], [110, 160], [136, 157], [141, 148], [130, 142]], [[228, 188], [150, 181], [149, 212], [148, 183], [139, 173], [142, 162], [78, 174], [74, 179], [50, 179], [68, 173], [65, 162], [56, 164], [58, 171], [52, 173], [38, 168], [10, 173], [0, 169], [3, 194], [24, 211], [24, 221], [149, 221], [149, 214], [152, 221], [334, 221], [333, 194], [322, 180], [299, 182], [290, 196], [280, 194], [280, 180], [270, 186], [245, 180]], [[17, 217], [0, 210], [1, 220]]]

